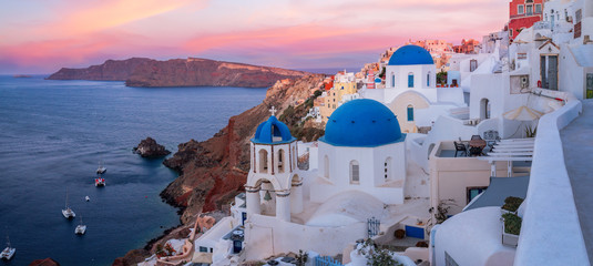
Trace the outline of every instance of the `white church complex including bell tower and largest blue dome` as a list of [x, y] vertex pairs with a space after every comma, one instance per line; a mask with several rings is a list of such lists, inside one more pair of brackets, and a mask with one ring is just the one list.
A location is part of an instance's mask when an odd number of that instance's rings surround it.
[[340, 254], [368, 237], [368, 218], [403, 203], [406, 134], [386, 105], [361, 99], [338, 108], [318, 142], [319, 167], [308, 171], [297, 167], [297, 141], [272, 112], [251, 141], [246, 259]]

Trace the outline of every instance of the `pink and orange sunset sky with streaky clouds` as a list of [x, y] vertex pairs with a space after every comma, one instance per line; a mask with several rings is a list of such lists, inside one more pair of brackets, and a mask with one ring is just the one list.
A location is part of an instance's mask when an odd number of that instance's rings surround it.
[[409, 40], [499, 31], [505, 0], [0, 0], [0, 73], [197, 57], [361, 68]]

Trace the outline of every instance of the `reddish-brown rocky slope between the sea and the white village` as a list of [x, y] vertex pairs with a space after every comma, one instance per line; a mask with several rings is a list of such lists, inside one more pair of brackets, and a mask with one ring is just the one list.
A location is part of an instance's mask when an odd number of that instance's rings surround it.
[[[200, 213], [224, 209], [244, 190], [249, 170], [249, 140], [257, 125], [269, 116], [272, 106], [279, 110], [278, 117], [287, 123], [297, 139], [311, 141], [323, 135], [323, 130], [295, 117], [306, 114], [313, 104], [311, 91], [320, 88], [324, 79], [325, 75], [310, 74], [278, 81], [268, 89], [259, 105], [231, 117], [227, 126], [209, 140], [191, 140], [178, 145], [178, 151], [163, 164], [177, 171], [180, 176], [161, 196], [171, 205], [181, 207], [182, 227], [191, 224]], [[147, 245], [144, 250], [153, 246]], [[139, 257], [150, 254], [145, 252], [130, 252], [114, 265], [132, 265], [126, 263], [137, 262]]]

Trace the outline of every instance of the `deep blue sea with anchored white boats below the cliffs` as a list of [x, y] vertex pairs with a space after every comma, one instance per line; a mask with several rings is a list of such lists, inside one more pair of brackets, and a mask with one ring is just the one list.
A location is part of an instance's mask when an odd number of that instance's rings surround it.
[[[6, 234], [17, 248], [0, 265], [45, 257], [65, 266], [111, 265], [178, 225], [176, 209], [159, 196], [176, 173], [132, 147], [146, 136], [172, 152], [191, 139], [207, 140], [265, 93], [0, 76], [0, 248]], [[93, 185], [99, 161], [108, 167], [103, 188]], [[75, 221], [61, 213], [67, 190]], [[83, 236], [74, 235], [80, 216]]]

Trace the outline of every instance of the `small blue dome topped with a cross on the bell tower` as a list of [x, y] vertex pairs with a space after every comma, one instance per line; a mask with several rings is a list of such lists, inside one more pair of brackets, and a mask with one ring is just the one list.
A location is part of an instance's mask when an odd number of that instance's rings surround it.
[[252, 142], [257, 144], [282, 144], [289, 143], [295, 140], [296, 139], [290, 135], [290, 130], [288, 130], [288, 126], [278, 121], [276, 116], [272, 115], [266, 122], [257, 126]]

